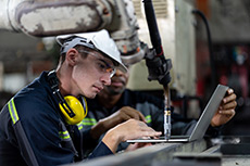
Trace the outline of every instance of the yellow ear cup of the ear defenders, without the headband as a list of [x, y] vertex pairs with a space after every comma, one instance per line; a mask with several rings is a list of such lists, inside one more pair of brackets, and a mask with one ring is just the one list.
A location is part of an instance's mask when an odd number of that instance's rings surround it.
[[64, 102], [59, 103], [60, 110], [63, 113], [66, 123], [70, 125], [75, 125], [82, 122], [88, 113], [88, 106], [87, 106], [86, 99], [83, 98], [84, 106], [80, 103], [80, 101], [73, 95], [64, 97], [64, 100], [70, 106], [70, 108], [72, 110], [72, 112], [75, 114], [74, 116], [71, 116], [71, 110], [67, 108], [68, 106]]

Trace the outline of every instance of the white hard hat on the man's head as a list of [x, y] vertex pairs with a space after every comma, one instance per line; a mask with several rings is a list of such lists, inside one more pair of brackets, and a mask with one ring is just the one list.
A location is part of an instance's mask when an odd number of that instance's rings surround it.
[[104, 53], [118, 63], [118, 69], [125, 73], [127, 72], [127, 67], [122, 63], [121, 53], [114, 40], [110, 38], [110, 35], [105, 29], [95, 33], [60, 35], [57, 37], [57, 41], [63, 47], [62, 53], [67, 52], [67, 50], [75, 46], [85, 46]]

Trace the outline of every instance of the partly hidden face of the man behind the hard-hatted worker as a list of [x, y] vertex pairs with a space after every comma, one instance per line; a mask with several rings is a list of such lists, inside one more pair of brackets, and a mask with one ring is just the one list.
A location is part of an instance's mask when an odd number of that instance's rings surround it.
[[114, 76], [111, 78], [111, 85], [105, 86], [102, 92], [109, 93], [110, 95], [123, 93], [128, 81], [128, 72], [123, 73], [122, 71], [117, 69]]

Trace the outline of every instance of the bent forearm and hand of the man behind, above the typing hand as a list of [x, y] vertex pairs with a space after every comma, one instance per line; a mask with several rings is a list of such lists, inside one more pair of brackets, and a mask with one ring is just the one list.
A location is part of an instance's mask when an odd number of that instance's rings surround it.
[[107, 118], [100, 119], [98, 124], [91, 128], [90, 133], [92, 138], [98, 139], [102, 133], [107, 132], [109, 129], [130, 118], [146, 123], [146, 118], [140, 112], [130, 106], [123, 106], [121, 110], [108, 116]]

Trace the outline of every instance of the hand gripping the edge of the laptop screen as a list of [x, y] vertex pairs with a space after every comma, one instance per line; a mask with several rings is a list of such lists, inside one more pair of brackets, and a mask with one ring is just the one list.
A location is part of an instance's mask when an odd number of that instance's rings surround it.
[[216, 127], [226, 124], [235, 116], [235, 107], [237, 106], [236, 94], [233, 89], [227, 90], [227, 95], [211, 120], [211, 126]]

